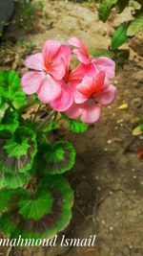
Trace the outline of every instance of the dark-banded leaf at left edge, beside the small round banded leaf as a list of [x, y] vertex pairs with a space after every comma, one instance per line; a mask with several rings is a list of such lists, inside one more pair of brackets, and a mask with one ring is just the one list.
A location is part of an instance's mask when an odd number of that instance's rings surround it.
[[12, 135], [8, 130], [0, 131], [1, 172], [29, 171], [36, 152], [36, 134], [31, 128], [17, 128]]

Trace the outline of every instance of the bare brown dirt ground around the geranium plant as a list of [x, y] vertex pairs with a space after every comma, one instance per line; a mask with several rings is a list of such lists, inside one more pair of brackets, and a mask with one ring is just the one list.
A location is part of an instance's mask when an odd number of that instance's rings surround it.
[[[120, 15], [112, 13], [103, 24], [94, 3], [44, 2], [47, 18], [38, 13], [32, 33], [10, 25], [0, 53], [2, 68], [25, 72], [23, 58], [40, 50], [48, 38], [65, 42], [75, 35], [89, 48], [108, 49], [114, 28], [132, 17], [130, 10]], [[112, 106], [103, 108], [100, 122], [84, 134], [72, 134], [63, 124], [59, 136], [72, 141], [77, 150], [75, 166], [68, 175], [75, 190], [73, 217], [63, 234], [69, 238], [95, 234], [95, 246], [21, 248], [12, 249], [10, 255], [143, 255], [143, 160], [136, 153], [143, 147], [143, 136], [134, 138], [132, 134], [137, 116], [143, 114], [142, 39], [142, 35], [137, 35], [125, 44], [130, 49], [130, 61], [113, 80], [117, 97]], [[128, 108], [118, 109], [123, 103]]]

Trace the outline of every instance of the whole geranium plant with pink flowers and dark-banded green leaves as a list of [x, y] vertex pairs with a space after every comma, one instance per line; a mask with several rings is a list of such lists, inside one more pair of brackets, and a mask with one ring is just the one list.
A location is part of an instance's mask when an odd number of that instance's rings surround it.
[[[79, 65], [71, 70], [72, 54]], [[74, 165], [75, 149], [69, 141], [51, 141], [51, 132], [61, 119], [74, 132], [100, 119], [100, 105], [115, 97], [115, 65], [111, 58], [93, 58], [76, 37], [67, 45], [47, 40], [25, 63], [30, 70], [21, 82], [13, 71], [0, 72], [0, 231], [11, 238], [52, 238], [72, 217], [73, 191], [63, 174]], [[30, 105], [37, 111], [26, 118]]]

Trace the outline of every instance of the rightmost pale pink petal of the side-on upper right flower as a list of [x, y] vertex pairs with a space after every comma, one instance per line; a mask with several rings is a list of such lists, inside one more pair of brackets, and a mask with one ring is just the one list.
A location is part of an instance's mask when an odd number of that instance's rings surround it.
[[109, 79], [114, 77], [115, 63], [111, 58], [97, 58], [93, 60], [93, 64], [98, 71], [105, 71]]

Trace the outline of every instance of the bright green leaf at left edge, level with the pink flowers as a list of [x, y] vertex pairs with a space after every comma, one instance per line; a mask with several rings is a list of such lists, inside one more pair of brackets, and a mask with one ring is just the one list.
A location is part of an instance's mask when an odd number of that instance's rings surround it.
[[0, 96], [15, 106], [25, 103], [26, 95], [22, 91], [20, 79], [16, 72], [0, 71]]

